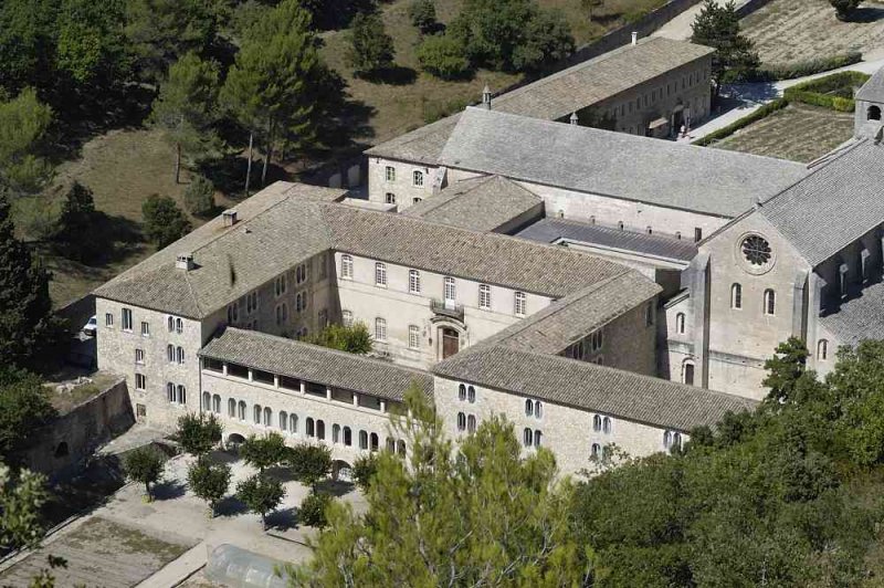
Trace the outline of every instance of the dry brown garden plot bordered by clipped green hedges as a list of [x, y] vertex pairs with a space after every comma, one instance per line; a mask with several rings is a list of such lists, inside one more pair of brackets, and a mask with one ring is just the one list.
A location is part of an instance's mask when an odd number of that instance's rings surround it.
[[807, 164], [852, 136], [852, 113], [791, 104], [711, 147]]

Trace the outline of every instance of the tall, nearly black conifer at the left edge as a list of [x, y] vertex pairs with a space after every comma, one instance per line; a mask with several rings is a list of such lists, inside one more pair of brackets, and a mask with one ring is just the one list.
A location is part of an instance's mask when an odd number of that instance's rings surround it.
[[11, 207], [0, 190], [0, 358], [28, 366], [51, 343], [57, 322], [51, 316], [50, 274], [14, 233]]

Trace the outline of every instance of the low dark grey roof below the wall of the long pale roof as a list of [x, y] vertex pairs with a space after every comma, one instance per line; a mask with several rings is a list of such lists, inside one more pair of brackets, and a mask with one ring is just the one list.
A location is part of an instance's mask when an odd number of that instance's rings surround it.
[[613, 227], [602, 227], [568, 219], [543, 219], [526, 227], [516, 237], [539, 243], [579, 241], [603, 249], [630, 251], [652, 258], [691, 261], [697, 254], [697, 246], [686, 239], [674, 239], [659, 234], [622, 231]]

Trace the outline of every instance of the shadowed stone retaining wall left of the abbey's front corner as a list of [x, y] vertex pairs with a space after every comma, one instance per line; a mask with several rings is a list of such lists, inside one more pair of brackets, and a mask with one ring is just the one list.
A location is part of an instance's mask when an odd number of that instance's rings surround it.
[[129, 391], [126, 380], [120, 379], [38, 430], [23, 461], [31, 470], [51, 479], [72, 475], [101, 444], [134, 423]]

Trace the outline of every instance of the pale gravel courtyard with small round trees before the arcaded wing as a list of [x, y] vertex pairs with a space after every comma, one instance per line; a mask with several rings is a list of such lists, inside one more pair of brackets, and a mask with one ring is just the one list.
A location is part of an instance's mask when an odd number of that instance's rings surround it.
[[[125, 438], [138, 432], [135, 428], [115, 442], [125, 445]], [[306, 561], [312, 553], [307, 543], [316, 529], [298, 525], [297, 508], [309, 489], [293, 481], [283, 469], [271, 471], [283, 481], [286, 495], [267, 516], [269, 528], [263, 532], [260, 517], [249, 513], [233, 496], [236, 483], [252, 475], [254, 469], [227, 452], [214, 452], [211, 459], [230, 463], [233, 474], [230, 493], [220, 504], [218, 516], [210, 518], [207, 504], [187, 487], [187, 469], [192, 458], [177, 455], [166, 462], [152, 502], [145, 502], [143, 485], [126, 484], [106, 504], [52, 534], [41, 548], [0, 570], [0, 585], [27, 585], [29, 578], [48, 567], [49, 555], [67, 560], [66, 569], [54, 571], [56, 586], [65, 588], [162, 587], [186, 578], [197, 582], [207, 555], [223, 544], [281, 561]], [[319, 486], [350, 502], [357, 511], [365, 506], [361, 494], [350, 484], [327, 481]]]

